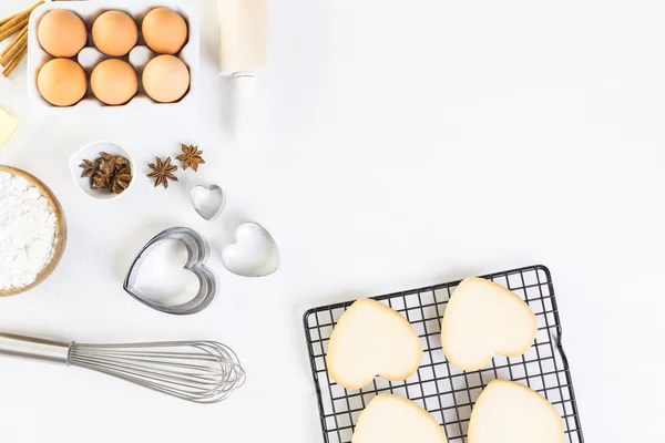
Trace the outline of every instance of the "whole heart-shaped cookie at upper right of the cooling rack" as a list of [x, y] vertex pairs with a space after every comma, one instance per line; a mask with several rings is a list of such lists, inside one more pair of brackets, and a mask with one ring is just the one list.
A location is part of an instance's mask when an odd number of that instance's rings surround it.
[[518, 357], [526, 352], [536, 330], [535, 316], [524, 300], [498, 284], [470, 277], [448, 301], [441, 344], [448, 361], [475, 371], [495, 353]]

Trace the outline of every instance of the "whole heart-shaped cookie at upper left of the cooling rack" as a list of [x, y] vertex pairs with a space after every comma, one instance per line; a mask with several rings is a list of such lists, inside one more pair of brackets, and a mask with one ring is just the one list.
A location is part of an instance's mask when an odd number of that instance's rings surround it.
[[328, 374], [346, 389], [360, 389], [378, 374], [406, 380], [418, 370], [422, 346], [413, 327], [390, 307], [357, 300], [330, 334]]

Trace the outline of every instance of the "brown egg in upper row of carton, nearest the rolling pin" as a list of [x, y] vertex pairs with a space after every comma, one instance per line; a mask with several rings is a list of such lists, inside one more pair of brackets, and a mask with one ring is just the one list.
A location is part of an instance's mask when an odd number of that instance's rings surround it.
[[153, 9], [141, 25], [145, 43], [158, 54], [176, 54], [187, 41], [187, 23], [168, 8]]

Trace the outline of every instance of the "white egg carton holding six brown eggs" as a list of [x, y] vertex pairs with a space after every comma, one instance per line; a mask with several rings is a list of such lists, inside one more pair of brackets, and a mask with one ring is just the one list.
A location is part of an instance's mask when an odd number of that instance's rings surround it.
[[[155, 54], [147, 48], [141, 33], [141, 23], [143, 18], [155, 8], [170, 8], [180, 13], [188, 27], [188, 39], [185, 47], [181, 50], [180, 58], [190, 69], [190, 90], [175, 103], [157, 103], [152, 100], [143, 89], [141, 76], [143, 69]], [[85, 48], [73, 56], [72, 60], [79, 63], [88, 75], [88, 91], [85, 96], [75, 105], [68, 107], [53, 106], [47, 102], [37, 87], [37, 75], [40, 69], [50, 60], [54, 59], [39, 43], [37, 30], [41, 19], [52, 10], [63, 9], [78, 14], [88, 28], [88, 42]], [[91, 30], [94, 20], [106, 11], [123, 11], [134, 18], [139, 27], [139, 43], [127, 54], [121, 58], [112, 58], [101, 53], [92, 42]], [[30, 16], [28, 28], [28, 95], [32, 106], [44, 114], [58, 115], [109, 115], [122, 114], [139, 116], [144, 112], [156, 111], [184, 111], [190, 110], [196, 101], [200, 87], [200, 59], [201, 59], [201, 22], [195, 4], [190, 0], [90, 0], [90, 1], [57, 1], [48, 2], [37, 8]], [[129, 62], [139, 75], [139, 91], [136, 95], [126, 104], [111, 106], [100, 102], [90, 87], [90, 75], [92, 70], [106, 59], [120, 59]]]

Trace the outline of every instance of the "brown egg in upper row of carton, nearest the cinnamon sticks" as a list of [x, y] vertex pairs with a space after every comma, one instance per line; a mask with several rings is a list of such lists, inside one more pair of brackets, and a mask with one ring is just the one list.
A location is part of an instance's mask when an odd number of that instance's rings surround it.
[[88, 40], [85, 23], [73, 12], [57, 9], [47, 12], [37, 28], [41, 47], [53, 56], [74, 56]]

